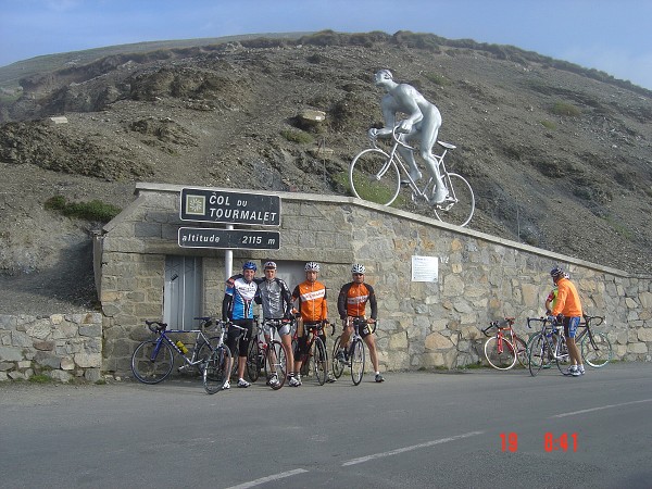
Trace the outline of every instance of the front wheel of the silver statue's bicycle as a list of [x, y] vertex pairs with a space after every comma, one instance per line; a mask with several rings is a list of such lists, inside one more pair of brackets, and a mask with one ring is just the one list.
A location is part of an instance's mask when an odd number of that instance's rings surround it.
[[351, 162], [349, 185], [359, 199], [389, 205], [401, 189], [399, 168], [385, 151], [367, 149]]

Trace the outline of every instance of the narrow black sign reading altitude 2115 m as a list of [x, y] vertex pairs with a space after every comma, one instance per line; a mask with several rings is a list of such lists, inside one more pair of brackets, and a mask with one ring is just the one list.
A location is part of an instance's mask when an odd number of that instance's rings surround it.
[[246, 229], [180, 227], [181, 248], [217, 248], [243, 250], [278, 250], [280, 233]]

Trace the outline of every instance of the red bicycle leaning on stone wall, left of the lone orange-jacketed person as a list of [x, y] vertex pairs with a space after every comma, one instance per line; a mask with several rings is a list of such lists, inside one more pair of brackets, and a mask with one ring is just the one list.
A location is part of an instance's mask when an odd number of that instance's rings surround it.
[[[505, 317], [503, 321], [493, 321], [482, 329], [489, 339], [485, 342], [485, 358], [489, 365], [499, 371], [509, 371], [516, 361], [524, 367], [528, 366], [527, 343], [516, 335], [514, 317]], [[489, 330], [496, 328], [496, 335], [490, 336]]]

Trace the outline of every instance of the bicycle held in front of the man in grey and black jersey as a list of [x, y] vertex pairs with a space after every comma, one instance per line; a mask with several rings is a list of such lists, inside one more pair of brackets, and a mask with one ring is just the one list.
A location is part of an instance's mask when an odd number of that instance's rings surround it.
[[[249, 343], [247, 353], [247, 375], [252, 383], [259, 379], [261, 369], [265, 372], [265, 378], [272, 389], [280, 389], [286, 380], [286, 349], [283, 343], [276, 339], [276, 331], [284, 326], [283, 319], [265, 319], [263, 327], [269, 329], [269, 342], [265, 341], [263, 328], [258, 323], [253, 339]], [[271, 383], [271, 378], [276, 376], [278, 383]]]

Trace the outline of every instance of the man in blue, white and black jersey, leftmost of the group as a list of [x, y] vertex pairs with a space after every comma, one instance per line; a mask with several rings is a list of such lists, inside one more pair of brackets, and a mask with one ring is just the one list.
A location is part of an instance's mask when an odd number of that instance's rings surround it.
[[[250, 384], [244, 380], [244, 366], [247, 365], [247, 349], [253, 331], [253, 303], [258, 294], [258, 284], [254, 280], [256, 266], [253, 262], [246, 262], [242, 265], [242, 273], [234, 275], [226, 280], [224, 299], [222, 300], [222, 319], [230, 321], [238, 326], [247, 328], [244, 335], [240, 338], [240, 349], [238, 353], [238, 387], [249, 387]], [[226, 344], [230, 351], [236, 352], [236, 342], [239, 330], [229, 328]], [[228, 368], [230, 372], [230, 365]], [[230, 387], [228, 380], [224, 388]]]

